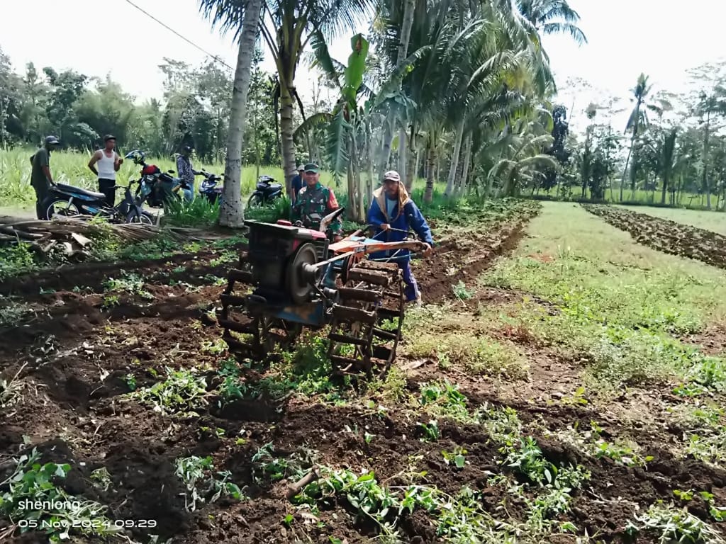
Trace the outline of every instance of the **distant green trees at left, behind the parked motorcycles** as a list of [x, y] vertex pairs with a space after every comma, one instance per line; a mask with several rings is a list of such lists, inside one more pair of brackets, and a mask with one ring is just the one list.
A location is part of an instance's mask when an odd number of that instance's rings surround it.
[[[280, 161], [274, 130], [274, 81], [259, 68], [255, 52], [243, 160], [272, 165]], [[110, 78], [89, 78], [74, 70], [13, 70], [0, 49], [0, 147], [38, 145], [53, 133], [64, 147], [97, 149], [113, 134], [123, 149], [140, 148], [155, 156], [193, 144], [205, 162], [223, 161], [229, 127], [232, 78], [212, 60], [198, 66], [165, 58], [160, 98], [138, 103]]]

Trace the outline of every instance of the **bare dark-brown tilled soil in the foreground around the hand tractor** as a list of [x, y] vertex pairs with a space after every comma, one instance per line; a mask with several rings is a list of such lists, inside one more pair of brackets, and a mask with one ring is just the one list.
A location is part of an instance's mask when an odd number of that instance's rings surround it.
[[[451, 299], [454, 284], [476, 279], [494, 257], [515, 247], [524, 235], [526, 221], [527, 217], [517, 218], [488, 228], [486, 235], [473, 232], [465, 239], [444, 240], [430, 259], [417, 264], [425, 302]], [[83, 265], [72, 271], [17, 279], [0, 288], [5, 294], [22, 294], [32, 308], [25, 321], [0, 330], [2, 377], [12, 378], [22, 369], [20, 379], [25, 385], [17, 403], [0, 408], [0, 481], [9, 472], [4, 461], [37, 448], [43, 461], [70, 463], [73, 469], [61, 481], [62, 486], [68, 493], [108, 506], [110, 519], [155, 520], [154, 529], [129, 529], [129, 535], [143, 543], [149, 541], [149, 535], [159, 535], [159, 542], [171, 537], [181, 544], [330, 543], [331, 537], [339, 539], [335, 542], [356, 543], [369, 542], [375, 536], [372, 524], [356, 521], [346, 498], [338, 498], [320, 511], [318, 519], [311, 520], [285, 497], [291, 482], [256, 477], [252, 458], [259, 448], [272, 443], [277, 458], [314, 452], [317, 463], [358, 473], [372, 469], [380, 485], [392, 488], [406, 485], [414, 471], [420, 474], [421, 485], [435, 485], [451, 495], [465, 486], [481, 491], [482, 508], [495, 517], [506, 517], [505, 511], [514, 517], [523, 514], [522, 503], [508, 497], [504, 487], [490, 484], [492, 474], [502, 472], [497, 462], [499, 445], [481, 426], [441, 419], [439, 440], [424, 442], [417, 420], [396, 410], [395, 405], [382, 413], [364, 403], [334, 406], [293, 396], [275, 402], [240, 400], [219, 408], [213, 386], [219, 361], [227, 355], [202, 347], [203, 342], [213, 344], [221, 335], [208, 312], [223, 287], [210, 285], [209, 278], [224, 277], [234, 263], [217, 263], [219, 256], [205, 251], [175, 259], [115, 263], [113, 267]], [[180, 265], [184, 271], [179, 271]], [[457, 271], [449, 275], [446, 271], [452, 266]], [[117, 277], [121, 268], [144, 277], [144, 289], [152, 300], [138, 293], [124, 294], [118, 304], [104, 306], [102, 285], [110, 275]], [[38, 285], [46, 294], [40, 294]], [[74, 291], [76, 286], [89, 289]], [[516, 296], [489, 290], [477, 300], [494, 304]], [[526, 344], [526, 339], [520, 340]], [[542, 390], [576, 371], [571, 361], [550, 358], [538, 349], [531, 349], [537, 355], [531, 364]], [[205, 376], [208, 398], [197, 415], [164, 416], [123, 396], [129, 392], [129, 374], [140, 389], [158, 382], [166, 367], [191, 366], [210, 368]], [[441, 377], [438, 370], [418, 368], [409, 373], [405, 387], [417, 392], [420, 384]], [[666, 447], [672, 441], [667, 429], [647, 431], [652, 445], [649, 453], [655, 456], [647, 470], [626, 468], [609, 458], [584, 456], [545, 436], [542, 429], [555, 432], [596, 420], [608, 421], [607, 432], [612, 434], [638, 432], [629, 424], [593, 413], [589, 406], [533, 403], [527, 400], [532, 384], [519, 391], [512, 384], [504, 394], [491, 382], [465, 374], [446, 377], [460, 385], [472, 407], [506, 404], [518, 411], [524, 424], [537, 422], [530, 434], [548, 461], [560, 466], [580, 463], [591, 472], [584, 490], [573, 493], [571, 511], [560, 516], [563, 522], [573, 522], [579, 535], [587, 531], [603, 542], [632, 541], [624, 529], [635, 508], [645, 509], [658, 499], [670, 500], [673, 490], [708, 490], [717, 503], [726, 503], [726, 474], [698, 461], [675, 458]], [[364, 440], [363, 429], [374, 438]], [[467, 450], [468, 463], [461, 470], [446, 466], [441, 456], [441, 450], [456, 447]], [[249, 499], [237, 502], [223, 496], [211, 505], [188, 511], [187, 490], [175, 474], [174, 461], [192, 455], [211, 456], [215, 469], [230, 471], [232, 481]], [[107, 489], [91, 479], [91, 472], [102, 467], [110, 474]], [[504, 510], [502, 504], [506, 504]], [[701, 501], [694, 500], [690, 511], [708, 519]], [[288, 514], [292, 518], [283, 523]], [[404, 541], [437, 541], [434, 519], [420, 510], [401, 514]], [[0, 519], [0, 540], [6, 530], [1, 528], [4, 522], [7, 520]], [[16, 532], [8, 541], [13, 538], [44, 542], [38, 533], [20, 536]], [[555, 535], [550, 541], [575, 542], [566, 535]], [[647, 535], [637, 539], [656, 541]]]

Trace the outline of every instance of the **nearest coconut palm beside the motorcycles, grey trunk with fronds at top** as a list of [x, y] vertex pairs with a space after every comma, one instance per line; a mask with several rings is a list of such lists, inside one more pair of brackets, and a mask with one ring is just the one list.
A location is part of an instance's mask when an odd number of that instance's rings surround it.
[[229, 110], [227, 133], [227, 160], [224, 165], [224, 200], [219, 210], [221, 226], [241, 227], [245, 220], [242, 205], [242, 144], [247, 118], [247, 95], [250, 89], [252, 60], [257, 41], [262, 0], [248, 0], [245, 4], [225, 1], [200, 0], [200, 9], [213, 24], [234, 30], [239, 42], [237, 67], [234, 69], [232, 102]]

